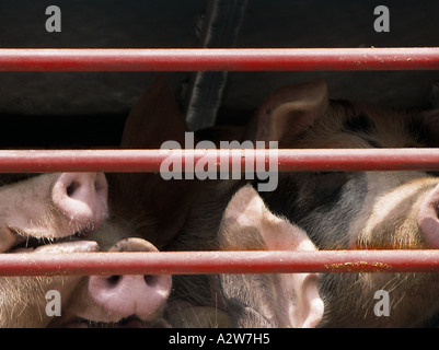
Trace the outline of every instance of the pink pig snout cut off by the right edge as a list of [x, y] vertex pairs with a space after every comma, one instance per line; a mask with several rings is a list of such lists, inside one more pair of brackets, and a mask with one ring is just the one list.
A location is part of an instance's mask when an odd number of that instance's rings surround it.
[[439, 248], [439, 185], [423, 200], [417, 224], [430, 248]]

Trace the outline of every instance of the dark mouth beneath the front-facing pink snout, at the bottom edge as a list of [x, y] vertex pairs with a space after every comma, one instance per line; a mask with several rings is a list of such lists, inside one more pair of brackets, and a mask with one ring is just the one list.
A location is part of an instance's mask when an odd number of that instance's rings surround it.
[[171, 328], [171, 325], [163, 318], [141, 320], [137, 316], [129, 316], [117, 323], [103, 323], [77, 318], [63, 325], [62, 328]]

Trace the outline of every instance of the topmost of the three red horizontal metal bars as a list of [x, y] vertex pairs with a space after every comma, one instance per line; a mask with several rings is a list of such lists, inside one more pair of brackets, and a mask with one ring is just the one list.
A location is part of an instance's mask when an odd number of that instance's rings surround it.
[[362, 71], [438, 69], [438, 47], [0, 49], [0, 71]]

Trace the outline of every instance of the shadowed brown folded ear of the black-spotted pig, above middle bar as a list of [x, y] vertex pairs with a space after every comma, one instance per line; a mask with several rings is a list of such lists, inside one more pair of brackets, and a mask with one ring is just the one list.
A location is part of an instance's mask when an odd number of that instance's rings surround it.
[[292, 140], [308, 129], [327, 106], [327, 85], [323, 80], [279, 89], [256, 113], [256, 140]]

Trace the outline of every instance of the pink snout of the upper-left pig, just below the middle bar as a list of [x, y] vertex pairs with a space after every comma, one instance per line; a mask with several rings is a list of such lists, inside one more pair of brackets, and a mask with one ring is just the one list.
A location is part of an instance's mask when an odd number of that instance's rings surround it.
[[107, 183], [103, 173], [63, 173], [51, 191], [54, 206], [69, 220], [94, 230], [107, 215]]

